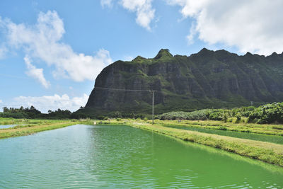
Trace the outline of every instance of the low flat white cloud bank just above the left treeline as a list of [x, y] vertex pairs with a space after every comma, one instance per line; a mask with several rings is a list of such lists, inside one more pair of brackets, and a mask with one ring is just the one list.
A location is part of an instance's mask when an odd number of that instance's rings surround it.
[[37, 110], [42, 113], [47, 113], [48, 110], [70, 110], [76, 111], [81, 106], [86, 105], [88, 101], [88, 96], [83, 94], [81, 97], [70, 98], [67, 94], [59, 96], [54, 94], [54, 96], [19, 96], [13, 99], [11, 104], [13, 107], [30, 107], [33, 105]]

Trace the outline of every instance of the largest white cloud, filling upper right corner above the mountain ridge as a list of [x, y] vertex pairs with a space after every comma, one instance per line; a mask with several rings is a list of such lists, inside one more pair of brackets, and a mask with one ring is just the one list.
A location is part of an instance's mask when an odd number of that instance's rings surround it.
[[241, 52], [270, 55], [283, 51], [283, 1], [167, 0], [194, 18], [195, 33], [209, 44], [236, 46]]

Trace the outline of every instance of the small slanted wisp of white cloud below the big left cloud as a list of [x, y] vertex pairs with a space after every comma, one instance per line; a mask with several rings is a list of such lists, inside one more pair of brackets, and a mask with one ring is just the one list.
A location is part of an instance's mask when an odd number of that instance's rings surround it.
[[42, 86], [48, 88], [50, 86], [50, 82], [46, 81], [45, 76], [43, 75], [43, 69], [36, 68], [33, 64], [31, 64], [28, 56], [25, 56], [24, 60], [25, 65], [28, 68], [26, 74], [28, 74], [28, 76], [33, 77], [34, 79], [37, 79], [37, 81], [40, 81], [40, 84], [42, 84]]

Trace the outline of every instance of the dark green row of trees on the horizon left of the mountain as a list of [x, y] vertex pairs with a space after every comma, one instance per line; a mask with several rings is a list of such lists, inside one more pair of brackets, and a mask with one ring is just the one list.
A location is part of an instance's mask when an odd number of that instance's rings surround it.
[[3, 108], [3, 113], [0, 113], [0, 118], [26, 118], [26, 119], [67, 119], [71, 118], [69, 110], [48, 110], [48, 113], [41, 113], [33, 105], [30, 108]]

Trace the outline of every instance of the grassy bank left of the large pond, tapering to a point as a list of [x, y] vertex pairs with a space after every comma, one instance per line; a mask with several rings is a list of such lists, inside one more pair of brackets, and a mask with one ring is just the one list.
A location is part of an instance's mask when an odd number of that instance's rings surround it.
[[7, 129], [0, 129], [0, 139], [18, 137], [35, 132], [54, 130], [81, 123], [78, 120], [26, 120], [13, 118], [0, 118], [0, 125], [17, 125]]

